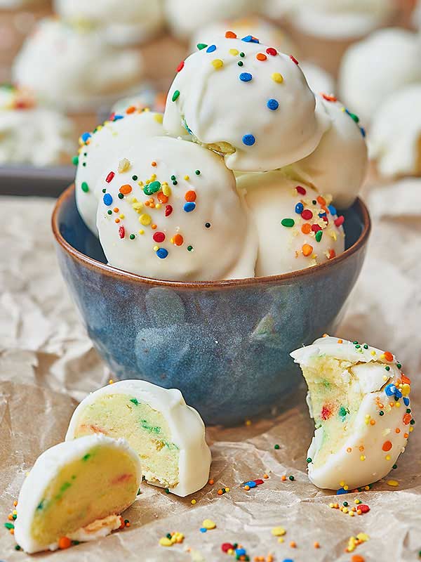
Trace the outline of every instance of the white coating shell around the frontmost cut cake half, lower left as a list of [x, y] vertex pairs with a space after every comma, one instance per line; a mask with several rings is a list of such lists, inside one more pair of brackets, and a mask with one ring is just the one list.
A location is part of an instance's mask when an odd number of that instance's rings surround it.
[[[138, 485], [142, 482], [142, 467], [138, 455], [128, 446], [125, 439], [112, 439], [103, 435], [86, 436], [80, 439], [69, 441], [66, 443], [59, 443], [50, 449], [47, 449], [36, 459], [32, 470], [25, 479], [20, 490], [18, 498], [18, 517], [15, 521], [15, 540], [19, 546], [27, 553], [32, 554], [43, 550], [55, 550], [58, 544], [39, 544], [36, 542], [31, 534], [32, 519], [36, 511], [36, 507], [43, 499], [44, 491], [49, 483], [55, 476], [58, 475], [60, 470], [67, 464], [80, 459], [93, 447], [107, 446], [114, 447], [118, 450], [126, 452], [132, 457], [133, 462], [137, 466], [137, 480]], [[133, 501], [135, 498], [133, 498]], [[99, 523], [99, 522], [95, 522]], [[116, 528], [116, 521], [110, 518], [109, 521], [97, 533], [90, 536], [90, 540], [100, 536], [108, 535]], [[107, 524], [109, 523], [109, 524]], [[79, 537], [81, 540], [86, 540], [88, 534], [82, 529], [74, 532], [72, 537], [76, 540]], [[70, 537], [69, 537], [70, 538]]]

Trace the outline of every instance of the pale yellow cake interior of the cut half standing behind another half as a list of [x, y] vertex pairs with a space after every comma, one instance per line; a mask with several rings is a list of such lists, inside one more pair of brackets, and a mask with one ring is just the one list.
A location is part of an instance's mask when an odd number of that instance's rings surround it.
[[171, 441], [166, 419], [148, 404], [127, 394], [98, 396], [81, 412], [74, 437], [92, 433], [126, 438], [138, 453], [149, 483], [164, 488], [178, 485], [180, 451]]

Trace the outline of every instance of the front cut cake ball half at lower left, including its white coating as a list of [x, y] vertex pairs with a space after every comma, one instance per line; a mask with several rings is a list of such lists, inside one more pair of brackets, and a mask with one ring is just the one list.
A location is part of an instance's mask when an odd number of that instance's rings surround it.
[[20, 490], [15, 539], [32, 554], [67, 548], [119, 529], [142, 469], [124, 439], [93, 435], [60, 443], [34, 464]]

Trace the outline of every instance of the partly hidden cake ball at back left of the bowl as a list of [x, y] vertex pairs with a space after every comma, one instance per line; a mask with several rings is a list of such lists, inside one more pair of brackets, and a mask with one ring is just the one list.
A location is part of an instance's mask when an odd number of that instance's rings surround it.
[[75, 159], [76, 204], [86, 226], [95, 235], [98, 235], [98, 200], [102, 195], [101, 190], [95, 192], [95, 185], [105, 164], [113, 162], [125, 150], [137, 145], [142, 147], [148, 138], [159, 135], [163, 135], [161, 113], [138, 110], [131, 105], [79, 138], [79, 156]]

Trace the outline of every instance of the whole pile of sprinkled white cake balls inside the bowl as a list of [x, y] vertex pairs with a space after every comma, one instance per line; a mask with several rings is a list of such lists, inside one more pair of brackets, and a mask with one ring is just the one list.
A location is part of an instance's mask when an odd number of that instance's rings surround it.
[[367, 166], [359, 118], [293, 55], [227, 32], [177, 68], [164, 115], [128, 107], [80, 138], [76, 203], [111, 266], [211, 281], [345, 250]]

